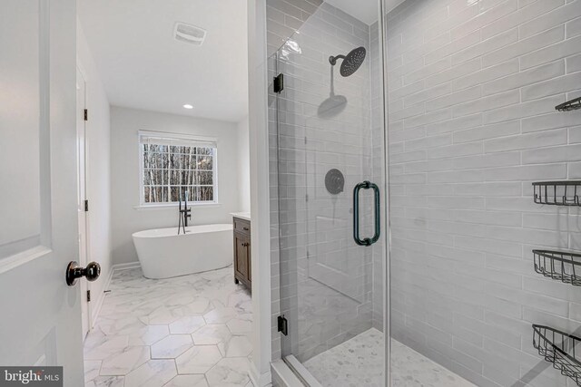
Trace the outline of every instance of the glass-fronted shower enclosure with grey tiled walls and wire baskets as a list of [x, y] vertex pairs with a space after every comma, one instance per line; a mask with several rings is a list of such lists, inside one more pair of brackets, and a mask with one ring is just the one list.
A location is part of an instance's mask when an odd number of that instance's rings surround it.
[[271, 30], [273, 353], [310, 386], [581, 386], [581, 0], [309, 4]]

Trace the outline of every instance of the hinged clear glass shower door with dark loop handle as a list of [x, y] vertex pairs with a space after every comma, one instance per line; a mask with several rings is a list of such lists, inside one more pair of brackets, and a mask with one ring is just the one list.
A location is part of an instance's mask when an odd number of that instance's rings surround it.
[[382, 63], [368, 23], [323, 3], [271, 58], [281, 351], [309, 384], [385, 382]]

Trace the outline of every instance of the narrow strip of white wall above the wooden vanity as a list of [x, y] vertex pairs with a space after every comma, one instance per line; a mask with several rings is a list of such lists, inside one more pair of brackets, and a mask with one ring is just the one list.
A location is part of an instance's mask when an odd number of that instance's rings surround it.
[[238, 122], [238, 208], [251, 211], [251, 144], [248, 117]]

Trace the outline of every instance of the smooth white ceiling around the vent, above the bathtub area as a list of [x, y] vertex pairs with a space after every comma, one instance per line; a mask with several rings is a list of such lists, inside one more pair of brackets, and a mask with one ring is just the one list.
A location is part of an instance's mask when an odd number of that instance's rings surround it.
[[[248, 115], [246, 1], [77, 4], [112, 105], [222, 121], [241, 121]], [[205, 29], [204, 44], [174, 40], [176, 22]], [[184, 109], [186, 103], [193, 109]]]

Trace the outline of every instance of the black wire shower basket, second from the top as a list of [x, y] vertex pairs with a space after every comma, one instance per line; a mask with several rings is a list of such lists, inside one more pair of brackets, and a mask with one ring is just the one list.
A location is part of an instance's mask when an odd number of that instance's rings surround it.
[[537, 204], [581, 207], [581, 180], [540, 181], [533, 189]]

